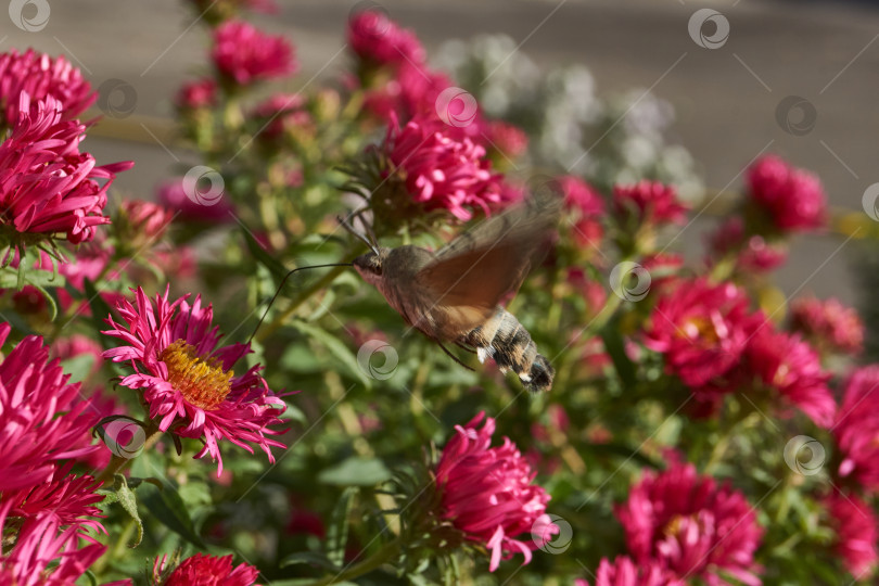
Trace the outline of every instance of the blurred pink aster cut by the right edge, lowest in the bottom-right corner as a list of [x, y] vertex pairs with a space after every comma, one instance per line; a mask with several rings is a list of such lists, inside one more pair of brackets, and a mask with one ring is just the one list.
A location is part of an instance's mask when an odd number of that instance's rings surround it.
[[876, 513], [857, 495], [833, 492], [825, 498], [827, 519], [837, 533], [835, 549], [845, 568], [858, 579], [868, 577], [879, 561], [879, 527]]

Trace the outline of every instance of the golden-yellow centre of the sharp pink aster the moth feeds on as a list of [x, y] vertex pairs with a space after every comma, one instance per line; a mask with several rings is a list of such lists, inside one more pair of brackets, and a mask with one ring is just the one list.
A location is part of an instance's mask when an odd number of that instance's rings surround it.
[[167, 346], [158, 359], [168, 367], [168, 381], [191, 405], [213, 411], [232, 388], [233, 371], [225, 372], [217, 358], [202, 359], [183, 340]]

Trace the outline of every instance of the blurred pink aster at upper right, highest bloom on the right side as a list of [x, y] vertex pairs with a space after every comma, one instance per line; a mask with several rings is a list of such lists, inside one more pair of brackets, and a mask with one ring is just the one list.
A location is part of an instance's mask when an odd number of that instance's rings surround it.
[[827, 196], [818, 178], [768, 155], [748, 169], [753, 202], [782, 232], [821, 228], [827, 221]]

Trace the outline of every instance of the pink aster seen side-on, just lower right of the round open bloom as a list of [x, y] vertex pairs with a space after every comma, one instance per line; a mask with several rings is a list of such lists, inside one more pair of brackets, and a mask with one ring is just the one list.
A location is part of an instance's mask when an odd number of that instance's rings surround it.
[[830, 426], [837, 410], [827, 387], [830, 374], [821, 369], [817, 353], [798, 334], [774, 332], [768, 324], [762, 327], [748, 343], [746, 356], [748, 372], [816, 424]]

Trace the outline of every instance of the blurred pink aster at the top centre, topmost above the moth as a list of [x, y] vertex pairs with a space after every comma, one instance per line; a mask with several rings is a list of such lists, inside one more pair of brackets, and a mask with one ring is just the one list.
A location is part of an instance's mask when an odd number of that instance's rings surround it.
[[424, 49], [411, 30], [377, 10], [357, 13], [348, 22], [348, 44], [358, 58], [372, 65], [424, 62]]

